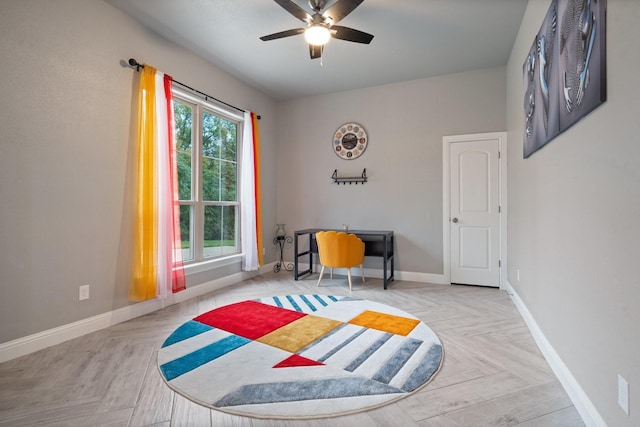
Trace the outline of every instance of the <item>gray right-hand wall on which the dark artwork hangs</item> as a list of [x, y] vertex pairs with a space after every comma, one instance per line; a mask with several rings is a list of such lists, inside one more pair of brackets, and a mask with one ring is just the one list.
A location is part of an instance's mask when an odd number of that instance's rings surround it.
[[607, 102], [523, 160], [522, 64], [549, 4], [529, 2], [507, 68], [509, 282], [607, 424], [638, 426], [640, 2], [608, 0]]

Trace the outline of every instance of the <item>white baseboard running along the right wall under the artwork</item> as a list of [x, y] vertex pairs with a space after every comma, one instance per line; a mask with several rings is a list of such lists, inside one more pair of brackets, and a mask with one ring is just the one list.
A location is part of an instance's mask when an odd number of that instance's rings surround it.
[[524, 304], [522, 299], [520, 299], [520, 296], [513, 289], [508, 280], [505, 281], [504, 290], [511, 296], [513, 303], [518, 308], [520, 315], [524, 319], [527, 327], [529, 328], [529, 331], [533, 335], [538, 348], [551, 366], [553, 373], [556, 375], [556, 377], [558, 377], [558, 380], [569, 395], [569, 398], [582, 417], [585, 425], [587, 427], [607, 427], [607, 423], [605, 423], [604, 419], [602, 418], [596, 407], [593, 405], [587, 394], [584, 392], [582, 387], [580, 387], [578, 381], [571, 374], [571, 371], [569, 370], [567, 365], [564, 364], [558, 353], [556, 353], [555, 349], [551, 346], [551, 343], [544, 336], [542, 330], [540, 330], [538, 324], [531, 315], [531, 312]]

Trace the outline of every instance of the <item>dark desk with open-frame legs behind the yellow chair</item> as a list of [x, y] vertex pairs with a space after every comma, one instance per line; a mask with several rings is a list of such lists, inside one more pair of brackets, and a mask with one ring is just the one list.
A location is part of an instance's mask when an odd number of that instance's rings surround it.
[[[329, 231], [324, 228], [306, 228], [304, 230], [298, 230], [294, 232], [293, 237], [293, 277], [298, 280], [305, 274], [313, 272], [313, 254], [318, 253], [318, 242], [316, 242], [316, 233], [318, 231]], [[343, 231], [343, 230], [333, 230]], [[298, 245], [298, 238], [303, 235], [309, 236], [309, 248], [300, 252]], [[387, 289], [387, 284], [393, 280], [393, 231], [376, 231], [376, 230], [349, 230], [349, 234], [357, 235], [364, 242], [364, 255], [365, 256], [377, 256], [382, 257], [383, 266], [383, 284], [384, 289]], [[298, 268], [298, 259], [309, 255], [309, 268], [305, 271], [300, 271]], [[387, 265], [391, 261], [389, 276], [387, 277]]]

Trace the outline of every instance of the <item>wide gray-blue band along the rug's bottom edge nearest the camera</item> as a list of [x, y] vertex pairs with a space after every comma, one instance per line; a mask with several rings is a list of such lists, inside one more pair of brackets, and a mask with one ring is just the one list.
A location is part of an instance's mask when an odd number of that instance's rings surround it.
[[397, 393], [403, 391], [365, 377], [329, 378], [244, 385], [213, 405], [225, 407]]

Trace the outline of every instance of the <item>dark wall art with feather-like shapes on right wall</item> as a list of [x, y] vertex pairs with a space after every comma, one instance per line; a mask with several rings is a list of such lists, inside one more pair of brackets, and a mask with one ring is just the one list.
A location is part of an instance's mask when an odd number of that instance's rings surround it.
[[522, 66], [524, 158], [606, 101], [606, 0], [552, 0]]

